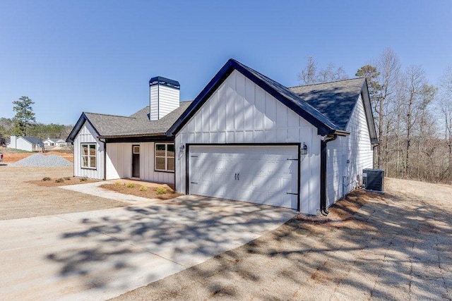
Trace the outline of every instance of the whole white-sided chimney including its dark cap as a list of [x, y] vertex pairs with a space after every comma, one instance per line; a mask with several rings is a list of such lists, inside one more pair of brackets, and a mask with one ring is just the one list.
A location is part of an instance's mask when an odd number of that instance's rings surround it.
[[179, 108], [179, 91], [177, 80], [157, 76], [149, 80], [150, 121], [160, 118]]

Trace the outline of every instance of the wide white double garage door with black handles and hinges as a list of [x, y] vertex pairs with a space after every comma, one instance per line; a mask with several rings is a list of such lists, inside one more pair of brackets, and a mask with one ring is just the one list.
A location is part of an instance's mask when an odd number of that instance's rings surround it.
[[297, 146], [189, 147], [189, 193], [297, 209]]

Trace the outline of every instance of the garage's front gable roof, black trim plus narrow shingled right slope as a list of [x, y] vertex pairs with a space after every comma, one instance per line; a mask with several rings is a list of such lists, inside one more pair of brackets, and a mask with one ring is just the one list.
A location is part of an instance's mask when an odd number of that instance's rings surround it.
[[258, 73], [256, 70], [253, 70], [242, 63], [235, 61], [234, 59], [230, 59], [227, 63], [225, 63], [225, 66], [218, 71], [213, 79], [210, 80], [201, 93], [198, 94], [198, 97], [196, 97], [194, 102], [188, 109], [186, 109], [176, 123], [169, 128], [167, 135], [171, 136], [177, 133], [182, 126], [189, 121], [191, 116], [193, 116], [194, 113], [201, 108], [213, 92], [220, 87], [222, 82], [226, 80], [233, 70], [237, 70], [239, 73], [242, 73], [246, 76], [246, 78], [249, 78], [249, 80], [253, 81], [256, 85], [292, 109], [292, 111], [295, 111], [295, 113], [299, 116], [316, 126], [316, 128], [318, 128], [319, 135], [328, 135], [333, 133], [340, 133], [341, 135], [347, 134], [338, 128], [338, 126], [331, 122], [326, 116], [324, 116], [323, 113], [315, 109], [307, 102], [302, 101], [297, 94], [287, 89], [287, 87], [284, 87], [280, 83], [267, 78], [265, 75]]

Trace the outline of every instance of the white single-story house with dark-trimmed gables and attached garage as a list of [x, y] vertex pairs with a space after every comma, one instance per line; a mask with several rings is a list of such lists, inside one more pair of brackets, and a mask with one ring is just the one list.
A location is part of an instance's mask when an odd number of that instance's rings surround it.
[[378, 145], [367, 80], [285, 87], [233, 59], [193, 102], [151, 78], [150, 106], [131, 116], [82, 113], [74, 175], [138, 178], [177, 192], [307, 214], [353, 190]]

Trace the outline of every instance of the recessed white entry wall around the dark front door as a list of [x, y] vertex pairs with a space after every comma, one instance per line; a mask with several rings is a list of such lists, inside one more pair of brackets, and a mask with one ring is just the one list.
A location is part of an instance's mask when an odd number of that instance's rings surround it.
[[108, 143], [107, 144], [107, 180], [131, 178], [132, 145], [140, 146], [140, 179], [157, 183], [174, 184], [174, 173], [154, 171], [155, 144]]

